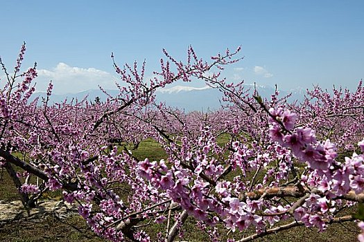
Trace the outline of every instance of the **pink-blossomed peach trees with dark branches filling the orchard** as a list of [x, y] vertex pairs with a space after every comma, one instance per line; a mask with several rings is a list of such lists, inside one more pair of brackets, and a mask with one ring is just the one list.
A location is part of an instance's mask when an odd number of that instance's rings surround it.
[[[188, 216], [211, 241], [250, 241], [300, 225], [323, 231], [356, 219], [338, 211], [364, 201], [362, 82], [355, 92], [315, 86], [302, 103], [278, 91], [263, 100], [221, 77], [241, 60], [240, 48], [205, 61], [189, 47], [185, 62], [164, 50], [150, 80], [145, 63], [114, 62], [119, 94], [105, 102], [52, 104], [52, 83], [45, 99], [31, 101], [37, 69], [21, 72], [25, 51], [24, 44], [11, 73], [0, 59], [0, 161], [25, 207], [62, 190], [110, 241], [151, 241], [150, 223], [165, 225], [155, 233], [159, 241], [173, 241]], [[223, 106], [184, 113], [157, 103], [155, 91], [177, 81], [219, 89]], [[133, 155], [130, 147], [146, 138], [162, 146], [165, 159]], [[22, 178], [29, 176], [42, 182]]]

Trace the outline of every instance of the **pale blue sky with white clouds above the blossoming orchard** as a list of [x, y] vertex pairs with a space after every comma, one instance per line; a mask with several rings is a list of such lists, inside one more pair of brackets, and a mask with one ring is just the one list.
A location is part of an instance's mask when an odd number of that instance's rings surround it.
[[354, 90], [364, 78], [363, 0], [0, 0], [0, 21], [8, 68], [26, 41], [39, 89], [53, 80], [59, 93], [111, 88], [111, 52], [121, 66], [146, 59], [152, 71], [162, 48], [185, 59], [190, 44], [201, 57], [242, 46], [245, 59], [226, 72], [235, 82]]

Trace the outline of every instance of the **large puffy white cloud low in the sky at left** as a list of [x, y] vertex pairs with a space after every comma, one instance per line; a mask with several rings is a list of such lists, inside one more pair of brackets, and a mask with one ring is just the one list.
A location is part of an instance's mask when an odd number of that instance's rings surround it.
[[40, 69], [37, 71], [37, 91], [45, 91], [50, 80], [53, 82], [55, 93], [77, 93], [89, 89], [115, 89], [118, 78], [106, 71], [96, 68], [80, 68], [69, 66], [60, 62], [51, 70]]

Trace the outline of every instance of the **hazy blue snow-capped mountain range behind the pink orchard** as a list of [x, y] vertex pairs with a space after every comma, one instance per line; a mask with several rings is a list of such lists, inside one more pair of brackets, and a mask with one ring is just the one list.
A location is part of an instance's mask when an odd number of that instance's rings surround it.
[[[247, 85], [249, 89], [252, 86]], [[115, 96], [119, 91], [106, 90], [112, 96]], [[270, 95], [275, 92], [270, 86], [259, 86], [257, 91], [261, 97], [270, 98]], [[253, 90], [251, 90], [253, 92]], [[293, 93], [289, 98], [290, 101], [298, 100], [302, 101], [304, 98], [304, 91], [297, 89], [295, 91], [279, 91], [280, 96], [284, 97], [288, 93]], [[83, 100], [87, 96], [87, 100], [94, 102], [96, 97], [99, 97], [101, 101], [106, 100], [105, 93], [98, 89], [92, 89], [87, 91], [81, 91], [79, 93], [67, 93], [67, 94], [52, 94], [51, 102], [63, 102], [66, 98], [68, 101], [72, 99]], [[38, 92], [33, 95], [35, 97], [46, 97], [46, 93]], [[211, 89], [208, 86], [202, 88], [196, 88], [191, 86], [173, 86], [169, 89], [162, 89], [157, 91], [157, 101], [166, 102], [169, 106], [184, 109], [184, 111], [207, 111], [215, 110], [220, 107], [220, 100], [222, 101], [223, 94], [217, 89]]]

